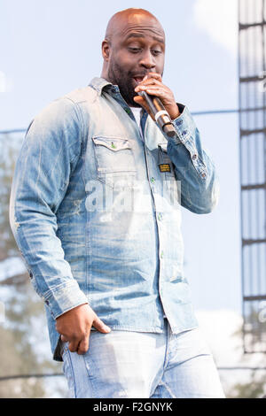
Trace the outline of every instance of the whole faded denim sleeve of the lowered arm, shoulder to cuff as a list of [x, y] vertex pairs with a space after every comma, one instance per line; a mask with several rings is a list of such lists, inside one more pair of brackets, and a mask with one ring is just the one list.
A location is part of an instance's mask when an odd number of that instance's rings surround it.
[[73, 104], [66, 100], [51, 104], [29, 128], [12, 181], [12, 232], [34, 288], [54, 318], [87, 303], [56, 234], [56, 212], [80, 144]]

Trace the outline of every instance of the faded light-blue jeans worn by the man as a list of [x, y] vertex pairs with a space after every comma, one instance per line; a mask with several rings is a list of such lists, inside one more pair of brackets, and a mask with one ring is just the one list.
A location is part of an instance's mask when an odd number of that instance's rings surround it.
[[90, 332], [84, 355], [63, 346], [69, 397], [203, 398], [222, 397], [211, 351], [200, 328], [173, 335]]

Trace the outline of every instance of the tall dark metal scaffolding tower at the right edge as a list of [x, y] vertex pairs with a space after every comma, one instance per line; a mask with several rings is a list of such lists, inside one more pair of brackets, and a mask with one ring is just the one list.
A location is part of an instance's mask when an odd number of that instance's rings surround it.
[[239, 152], [245, 352], [266, 352], [265, 16], [265, 0], [239, 0]]

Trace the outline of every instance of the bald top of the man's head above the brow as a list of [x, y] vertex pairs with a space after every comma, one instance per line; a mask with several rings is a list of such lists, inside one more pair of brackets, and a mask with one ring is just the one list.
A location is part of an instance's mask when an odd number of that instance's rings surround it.
[[164, 38], [163, 27], [152, 13], [145, 9], [130, 8], [113, 14], [106, 27], [106, 40], [112, 42], [113, 36], [124, 34], [129, 28], [134, 29], [134, 27], [138, 27], [139, 23], [145, 18], [149, 22], [147, 26], [154, 27]]

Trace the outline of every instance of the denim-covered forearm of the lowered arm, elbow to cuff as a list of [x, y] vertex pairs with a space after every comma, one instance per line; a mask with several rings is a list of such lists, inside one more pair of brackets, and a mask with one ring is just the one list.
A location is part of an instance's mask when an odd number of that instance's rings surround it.
[[[14, 201], [14, 204], [18, 203], [18, 199]], [[64, 250], [56, 235], [56, 218], [49, 213], [45, 216], [32, 212], [25, 206], [25, 210], [11, 210], [10, 220], [31, 282], [53, 317], [57, 318], [75, 306], [87, 303], [64, 259]]]

